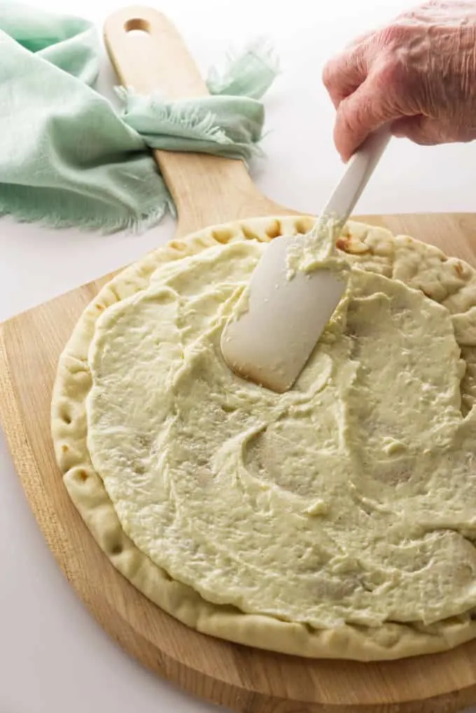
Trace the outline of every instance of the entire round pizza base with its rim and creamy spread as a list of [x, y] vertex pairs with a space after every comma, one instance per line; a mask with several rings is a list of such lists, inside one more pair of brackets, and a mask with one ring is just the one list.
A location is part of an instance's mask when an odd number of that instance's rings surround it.
[[66, 487], [115, 566], [202, 632], [311, 657], [451, 647], [476, 631], [475, 272], [350, 222], [348, 298], [278, 396], [219, 352], [276, 222], [172, 243], [88, 307], [53, 395]]

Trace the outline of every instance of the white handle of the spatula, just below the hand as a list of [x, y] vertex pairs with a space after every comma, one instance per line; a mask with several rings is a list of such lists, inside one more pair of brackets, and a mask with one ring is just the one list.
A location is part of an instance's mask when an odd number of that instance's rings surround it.
[[361, 148], [348, 161], [341, 180], [334, 188], [331, 198], [322, 211], [324, 215], [336, 217], [343, 225], [351, 215], [356, 202], [361, 197], [369, 178], [390, 140], [388, 125], [376, 130], [363, 142]]

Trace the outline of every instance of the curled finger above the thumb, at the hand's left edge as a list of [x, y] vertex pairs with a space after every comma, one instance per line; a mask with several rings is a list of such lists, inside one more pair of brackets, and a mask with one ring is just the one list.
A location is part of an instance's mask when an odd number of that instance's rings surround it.
[[366, 56], [363, 46], [358, 45], [328, 61], [324, 66], [322, 81], [337, 108], [343, 99], [361, 86], [366, 76]]

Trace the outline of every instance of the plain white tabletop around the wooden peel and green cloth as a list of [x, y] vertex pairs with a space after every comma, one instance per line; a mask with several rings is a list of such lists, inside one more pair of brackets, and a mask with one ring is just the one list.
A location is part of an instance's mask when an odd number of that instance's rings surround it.
[[[230, 45], [273, 41], [282, 73], [265, 98], [267, 159], [254, 168], [274, 200], [317, 211], [338, 178], [333, 108], [321, 85], [326, 58], [404, 2], [152, 0], [175, 21], [205, 71]], [[113, 0], [31, 0], [102, 23]], [[101, 87], [113, 74], [104, 61]], [[357, 212], [476, 211], [476, 142], [419, 148], [393, 140]], [[172, 236], [50, 231], [0, 220], [0, 321], [140, 257]], [[1, 394], [0, 394], [1, 398]], [[143, 670], [95, 623], [66, 583], [29, 511], [0, 431], [0, 713], [212, 712]], [[415, 662], [418, 665], [418, 662]], [[474, 709], [476, 712], [476, 709]]]

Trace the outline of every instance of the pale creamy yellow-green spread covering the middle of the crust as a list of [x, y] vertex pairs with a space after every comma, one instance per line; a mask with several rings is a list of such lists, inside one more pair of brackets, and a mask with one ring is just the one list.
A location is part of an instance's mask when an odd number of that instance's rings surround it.
[[476, 606], [476, 414], [449, 312], [352, 267], [294, 389], [222, 359], [266, 244], [159, 267], [90, 348], [88, 449], [125, 533], [207, 600], [283, 620], [431, 623]]

